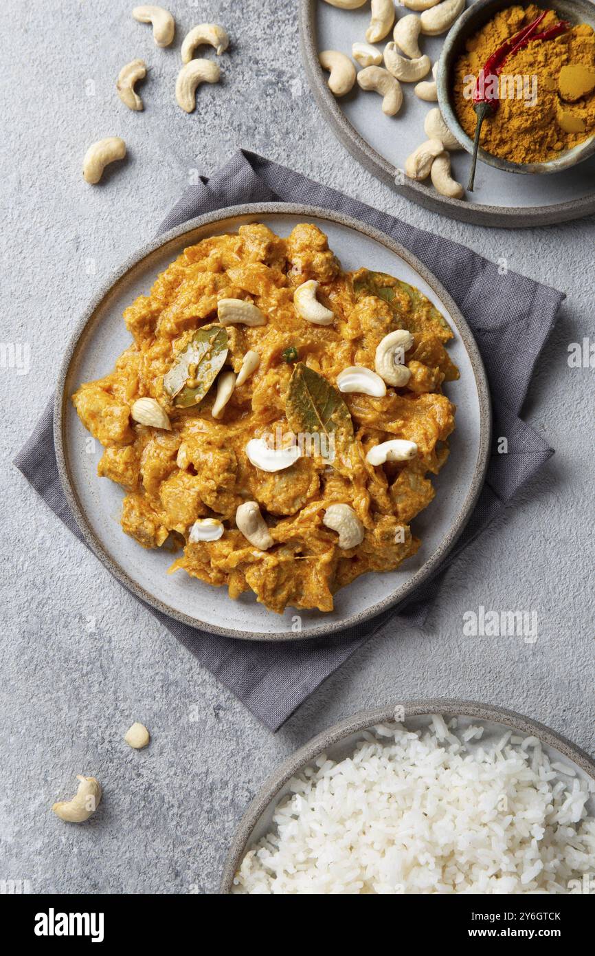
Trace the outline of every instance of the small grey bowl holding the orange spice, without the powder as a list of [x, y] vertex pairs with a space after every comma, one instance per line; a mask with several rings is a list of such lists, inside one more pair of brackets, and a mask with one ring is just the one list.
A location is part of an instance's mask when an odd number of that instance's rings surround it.
[[[467, 136], [458, 122], [454, 100], [451, 96], [451, 76], [454, 74], [455, 63], [459, 54], [464, 51], [465, 42], [468, 38], [477, 33], [480, 27], [491, 20], [496, 13], [505, 10], [510, 5], [511, 0], [476, 0], [476, 3], [472, 4], [468, 10], [459, 16], [454, 26], [447, 33], [442, 47], [436, 83], [438, 105], [446, 125], [468, 153], [473, 153], [473, 140]], [[524, 3], [522, 6], [529, 5]], [[549, 4], [545, 6], [549, 8]], [[573, 24], [587, 23], [595, 30], [595, 5], [590, 0], [552, 0], [552, 9], [563, 20], [569, 20]], [[546, 163], [510, 163], [508, 160], [500, 159], [499, 156], [487, 153], [481, 147], [478, 150], [478, 159], [482, 163], [496, 166], [497, 169], [503, 169], [505, 172], [539, 173], [542, 175], [569, 169], [576, 163], [582, 163], [594, 153], [595, 134], [579, 143], [578, 146], [573, 146], [572, 149], [561, 153], [555, 160], [548, 160]]]

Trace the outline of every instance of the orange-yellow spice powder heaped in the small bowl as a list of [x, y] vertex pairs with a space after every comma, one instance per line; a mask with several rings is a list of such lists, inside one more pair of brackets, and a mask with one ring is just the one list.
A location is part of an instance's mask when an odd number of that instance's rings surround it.
[[[534, 4], [508, 7], [467, 40], [466, 53], [455, 67], [455, 109], [470, 137], [477, 122], [471, 93], [479, 71], [505, 40], [540, 12]], [[540, 30], [558, 20], [556, 11], [547, 11]], [[543, 163], [594, 135], [595, 91], [573, 102], [561, 98], [560, 74], [569, 65], [595, 69], [595, 33], [587, 24], [549, 40], [531, 40], [510, 54], [499, 76], [499, 109], [483, 122], [480, 146], [511, 163]]]

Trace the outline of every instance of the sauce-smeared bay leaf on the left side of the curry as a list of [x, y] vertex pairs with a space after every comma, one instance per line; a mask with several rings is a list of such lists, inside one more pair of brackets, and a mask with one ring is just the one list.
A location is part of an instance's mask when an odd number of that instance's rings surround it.
[[[169, 372], [163, 377], [163, 389], [174, 399], [179, 408], [198, 405], [223, 368], [227, 358], [227, 331], [222, 325], [203, 326], [181, 352]], [[190, 378], [197, 382], [192, 388], [186, 383]]]

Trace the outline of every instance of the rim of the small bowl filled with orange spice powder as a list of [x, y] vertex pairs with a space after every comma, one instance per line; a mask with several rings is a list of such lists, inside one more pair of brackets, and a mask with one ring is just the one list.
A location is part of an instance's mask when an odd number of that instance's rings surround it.
[[[518, 0], [518, 6], [528, 7], [531, 2], [532, 0]], [[566, 0], [566, 2], [569, 2], [569, 0]], [[440, 113], [453, 136], [463, 149], [471, 154], [473, 153], [473, 139], [465, 133], [458, 121], [457, 112], [452, 104], [449, 82], [453, 60], [457, 55], [457, 43], [460, 40], [461, 33], [473, 33], [475, 29], [478, 29], [489, 20], [492, 12], [498, 12], [509, 5], [509, 0], [474, 0], [472, 5], [457, 17], [457, 20], [446, 34], [438, 60], [436, 90]], [[593, 154], [595, 154], [595, 133], [587, 137], [583, 142], [579, 142], [576, 146], [566, 150], [561, 156], [541, 163], [512, 163], [510, 160], [505, 160], [496, 156], [494, 153], [488, 153], [481, 147], [478, 149], [478, 160], [487, 165], [494, 166], [494, 168], [500, 169], [503, 172], [518, 173], [521, 175], [551, 176], [555, 173], [563, 172], [565, 169], [571, 169], [577, 165], [577, 163], [582, 163], [584, 160], [589, 159]]]

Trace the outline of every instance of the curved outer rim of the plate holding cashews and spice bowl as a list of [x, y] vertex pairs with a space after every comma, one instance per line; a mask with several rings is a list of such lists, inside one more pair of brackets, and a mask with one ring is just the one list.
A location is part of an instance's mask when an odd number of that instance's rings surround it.
[[[449, 216], [459, 222], [494, 228], [529, 228], [553, 226], [582, 219], [595, 213], [595, 192], [583, 199], [567, 200], [553, 206], [484, 206], [461, 199], [449, 199], [430, 192], [423, 185], [398, 182], [401, 171], [377, 152], [351, 125], [339, 102], [331, 94], [318, 63], [314, 11], [321, 0], [300, 0], [299, 33], [302, 61], [314, 99], [337, 139], [358, 163], [361, 163], [381, 182], [418, 206]], [[471, 9], [471, 8], [468, 8]], [[511, 173], [511, 175], [513, 175]]]

